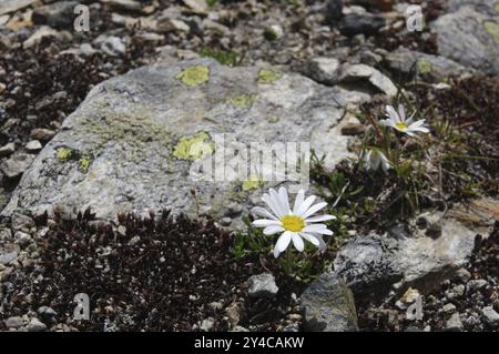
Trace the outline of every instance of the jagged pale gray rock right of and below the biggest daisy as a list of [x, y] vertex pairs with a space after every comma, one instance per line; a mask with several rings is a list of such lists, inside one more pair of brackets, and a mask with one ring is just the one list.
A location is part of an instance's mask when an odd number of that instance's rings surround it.
[[444, 219], [440, 225], [437, 239], [399, 227], [384, 235], [357, 236], [338, 252], [335, 272], [357, 300], [379, 299], [394, 285], [401, 293], [408, 286], [428, 293], [466, 264], [477, 234], [454, 220]]

